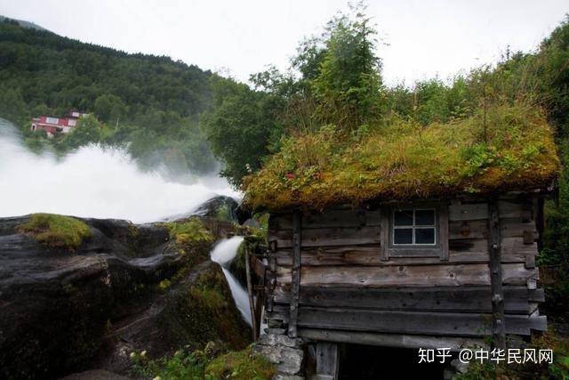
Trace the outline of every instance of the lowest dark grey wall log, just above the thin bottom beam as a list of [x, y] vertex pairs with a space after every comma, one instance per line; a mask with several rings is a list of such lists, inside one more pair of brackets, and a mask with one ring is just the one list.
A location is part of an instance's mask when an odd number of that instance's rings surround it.
[[[269, 318], [282, 319], [286, 313], [276, 308]], [[492, 334], [492, 315], [478, 313], [430, 311], [376, 311], [362, 309], [317, 308], [302, 306], [299, 310], [299, 328], [373, 331], [397, 334], [436, 336], [489, 336]], [[527, 336], [531, 329], [544, 331], [545, 316], [507, 314], [507, 334]]]

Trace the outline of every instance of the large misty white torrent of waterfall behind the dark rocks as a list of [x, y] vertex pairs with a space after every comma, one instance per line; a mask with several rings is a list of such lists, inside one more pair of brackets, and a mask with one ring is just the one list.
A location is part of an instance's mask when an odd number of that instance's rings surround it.
[[0, 118], [0, 217], [44, 212], [155, 222], [218, 194], [238, 197], [220, 178], [180, 184], [143, 173], [124, 150], [90, 145], [59, 160], [36, 155]]

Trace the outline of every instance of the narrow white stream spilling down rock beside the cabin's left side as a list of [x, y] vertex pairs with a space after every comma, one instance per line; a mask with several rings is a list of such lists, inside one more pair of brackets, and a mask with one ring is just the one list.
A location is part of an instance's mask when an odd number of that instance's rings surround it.
[[211, 257], [212, 261], [221, 265], [221, 270], [223, 271], [223, 274], [225, 274], [225, 278], [228, 280], [228, 286], [231, 290], [231, 295], [233, 295], [233, 299], [235, 300], [237, 309], [241, 312], [241, 315], [243, 315], [243, 318], [249, 326], [251, 326], [252, 319], [251, 309], [249, 306], [249, 295], [245, 288], [225, 268], [237, 255], [237, 248], [241, 245], [242, 241], [242, 236], [234, 236], [230, 239], [220, 240], [215, 247], [213, 247]]

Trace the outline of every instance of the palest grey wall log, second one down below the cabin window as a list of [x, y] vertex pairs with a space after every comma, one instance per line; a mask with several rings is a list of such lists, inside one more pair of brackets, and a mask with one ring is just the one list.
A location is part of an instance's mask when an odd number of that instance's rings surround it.
[[[525, 285], [537, 277], [537, 269], [523, 263], [502, 264], [504, 285]], [[277, 268], [280, 283], [291, 281], [289, 268]], [[399, 266], [303, 266], [301, 286], [357, 285], [360, 287], [450, 287], [490, 285], [487, 264]]]

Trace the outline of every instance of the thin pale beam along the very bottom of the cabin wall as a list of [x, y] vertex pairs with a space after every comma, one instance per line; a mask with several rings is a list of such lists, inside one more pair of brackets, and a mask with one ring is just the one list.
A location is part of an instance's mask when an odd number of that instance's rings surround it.
[[461, 349], [468, 347], [487, 347], [487, 344], [485, 344], [483, 339], [455, 336], [381, 334], [364, 333], [359, 331], [325, 330], [316, 328], [299, 328], [299, 336], [315, 341], [377, 345], [381, 347], [410, 349], [437, 349], [441, 347], [450, 347], [452, 351], [460, 351]]

